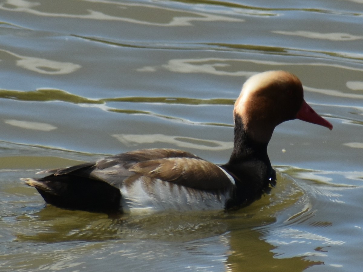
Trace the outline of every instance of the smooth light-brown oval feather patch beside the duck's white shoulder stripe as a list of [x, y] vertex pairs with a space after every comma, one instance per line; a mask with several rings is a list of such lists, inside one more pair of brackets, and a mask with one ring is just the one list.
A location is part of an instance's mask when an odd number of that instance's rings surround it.
[[129, 170], [200, 190], [224, 190], [231, 186], [231, 181], [223, 170], [200, 158], [160, 158], [142, 161]]

